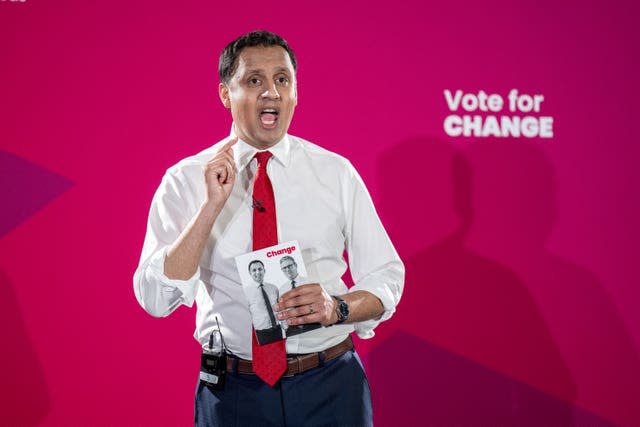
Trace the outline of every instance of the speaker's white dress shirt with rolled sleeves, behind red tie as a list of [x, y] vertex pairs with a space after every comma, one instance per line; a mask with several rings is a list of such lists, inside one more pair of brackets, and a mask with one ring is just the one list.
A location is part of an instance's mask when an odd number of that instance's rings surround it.
[[[206, 197], [204, 165], [230, 136], [188, 157], [165, 173], [156, 191], [140, 263], [133, 277], [136, 298], [151, 315], [164, 317], [180, 305], [197, 304], [195, 338], [205, 347], [220, 321], [228, 349], [251, 359], [251, 316], [234, 257], [252, 250], [252, 184], [257, 150], [239, 140], [231, 195], [216, 219], [199, 266], [188, 280], [164, 274], [168, 248], [195, 216]], [[384, 313], [377, 320], [335, 325], [287, 339], [287, 353], [324, 350], [356, 331], [361, 338], [388, 319], [400, 300], [404, 266], [375, 211], [362, 179], [345, 158], [301, 138], [286, 135], [269, 149], [267, 173], [276, 201], [278, 241], [300, 243], [307, 278], [330, 295], [365, 290], [377, 296]], [[341, 277], [347, 263], [355, 285]]]

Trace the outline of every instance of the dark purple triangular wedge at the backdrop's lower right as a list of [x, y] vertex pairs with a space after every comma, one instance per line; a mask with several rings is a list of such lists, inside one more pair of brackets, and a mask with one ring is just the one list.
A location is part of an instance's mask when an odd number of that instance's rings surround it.
[[405, 332], [373, 350], [367, 363], [376, 426], [615, 425]]

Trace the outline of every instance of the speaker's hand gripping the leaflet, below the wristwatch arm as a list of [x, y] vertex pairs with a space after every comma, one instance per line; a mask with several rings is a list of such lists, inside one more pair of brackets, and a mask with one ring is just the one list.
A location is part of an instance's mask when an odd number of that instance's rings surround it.
[[338, 321], [336, 300], [319, 283], [300, 285], [282, 294], [274, 306], [278, 319], [289, 326], [306, 323], [333, 325]]

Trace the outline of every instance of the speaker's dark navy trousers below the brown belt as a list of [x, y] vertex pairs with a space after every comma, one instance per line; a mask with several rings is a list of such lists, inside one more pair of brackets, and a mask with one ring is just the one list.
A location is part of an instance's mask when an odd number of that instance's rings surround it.
[[198, 381], [195, 425], [221, 427], [367, 427], [371, 392], [355, 351], [271, 388], [253, 374], [227, 372], [225, 389]]

